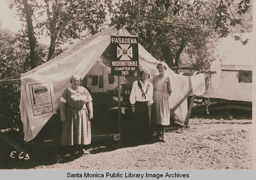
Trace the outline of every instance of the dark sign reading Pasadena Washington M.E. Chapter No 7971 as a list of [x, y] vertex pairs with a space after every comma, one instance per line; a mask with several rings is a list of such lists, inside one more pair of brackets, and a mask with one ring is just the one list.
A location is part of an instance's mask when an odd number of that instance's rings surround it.
[[111, 36], [111, 73], [133, 75], [139, 69], [138, 37]]

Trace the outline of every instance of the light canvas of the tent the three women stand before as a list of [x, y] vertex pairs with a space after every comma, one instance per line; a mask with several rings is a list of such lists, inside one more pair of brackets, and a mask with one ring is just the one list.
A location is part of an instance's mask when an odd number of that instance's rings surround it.
[[[31, 71], [22, 75], [22, 92], [20, 97], [20, 114], [24, 124], [24, 140], [26, 142], [32, 140], [41, 130], [41, 128], [51, 118], [53, 113], [59, 107], [59, 100], [63, 90], [70, 86], [70, 78], [72, 74], [79, 74], [81, 77], [86, 76], [91, 70], [95, 63], [100, 59], [104, 50], [110, 44], [110, 35], [122, 35], [129, 36], [130, 33], [124, 28], [119, 31], [115, 25], [102, 31], [90, 38], [84, 39], [80, 42], [75, 43], [73, 46], [68, 48], [65, 52], [55, 57], [54, 59], [42, 64]], [[148, 69], [151, 73], [149, 81], [153, 81], [155, 75], [158, 74], [156, 68], [159, 61], [151, 56], [140, 44], [139, 48], [139, 69]], [[96, 66], [100, 65], [96, 63]], [[99, 66], [100, 67], [100, 66]], [[100, 67], [101, 68], [101, 67]], [[100, 69], [99, 68], [99, 69]], [[171, 69], [167, 68], [166, 73], [171, 77], [172, 83], [172, 95], [170, 100], [170, 106], [173, 108], [177, 102], [182, 99], [184, 94], [187, 93], [189, 88], [189, 78], [186, 76], [178, 75]], [[52, 105], [54, 111], [36, 118], [31, 117], [30, 113], [30, 89], [28, 85], [31, 83], [36, 84], [37, 82], [51, 82], [52, 85]], [[104, 81], [105, 82], [105, 81]], [[108, 88], [106, 88], [108, 89]], [[38, 92], [44, 89], [38, 90]], [[35, 90], [34, 90], [35, 92]], [[181, 106], [175, 111], [177, 117], [184, 121], [187, 115], [187, 101], [185, 100]]]

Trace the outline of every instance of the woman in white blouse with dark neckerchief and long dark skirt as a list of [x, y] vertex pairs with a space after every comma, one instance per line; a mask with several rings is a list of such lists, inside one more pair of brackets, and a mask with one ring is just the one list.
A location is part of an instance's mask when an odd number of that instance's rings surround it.
[[153, 85], [147, 81], [150, 78], [148, 70], [140, 73], [140, 80], [133, 83], [130, 102], [132, 112], [135, 114], [135, 137], [148, 137], [151, 135], [151, 114], [148, 109], [153, 103]]

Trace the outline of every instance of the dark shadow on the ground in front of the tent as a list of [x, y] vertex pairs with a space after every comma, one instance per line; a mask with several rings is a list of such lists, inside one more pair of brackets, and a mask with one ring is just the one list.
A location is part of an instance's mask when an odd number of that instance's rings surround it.
[[[175, 127], [174, 127], [175, 125]], [[170, 125], [172, 128], [166, 130], [174, 131], [183, 126], [180, 124]], [[9, 132], [11, 133], [11, 132]], [[15, 136], [15, 135], [14, 135]], [[18, 135], [16, 134], [16, 137]], [[131, 136], [124, 136], [120, 141], [114, 140], [101, 140], [93, 141], [90, 145], [84, 147], [91, 154], [97, 154], [100, 152], [109, 152], [120, 148], [135, 147], [144, 144], [157, 143], [157, 139], [151, 138], [134, 138]], [[28, 151], [29, 159], [26, 159], [26, 153], [20, 155], [19, 152], [12, 153], [16, 151], [12, 146], [10, 146], [5, 141], [1, 140], [0, 149], [0, 169], [30, 169], [40, 165], [53, 165], [56, 163], [68, 163], [74, 161], [81, 156], [87, 156], [84, 153], [77, 153], [74, 148], [68, 146], [51, 145], [51, 146], [41, 146], [33, 147], [24, 143], [24, 148]], [[10, 155], [12, 155], [12, 158]]]

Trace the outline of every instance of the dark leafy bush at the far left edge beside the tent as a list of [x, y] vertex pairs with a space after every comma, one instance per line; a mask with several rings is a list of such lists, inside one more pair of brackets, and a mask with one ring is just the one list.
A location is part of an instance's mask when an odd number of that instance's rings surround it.
[[[47, 47], [36, 44], [38, 61], [43, 62]], [[0, 80], [18, 79], [30, 69], [30, 49], [27, 34], [0, 29]], [[20, 124], [20, 81], [0, 81], [0, 114]], [[11, 92], [11, 93], [10, 93]]]

